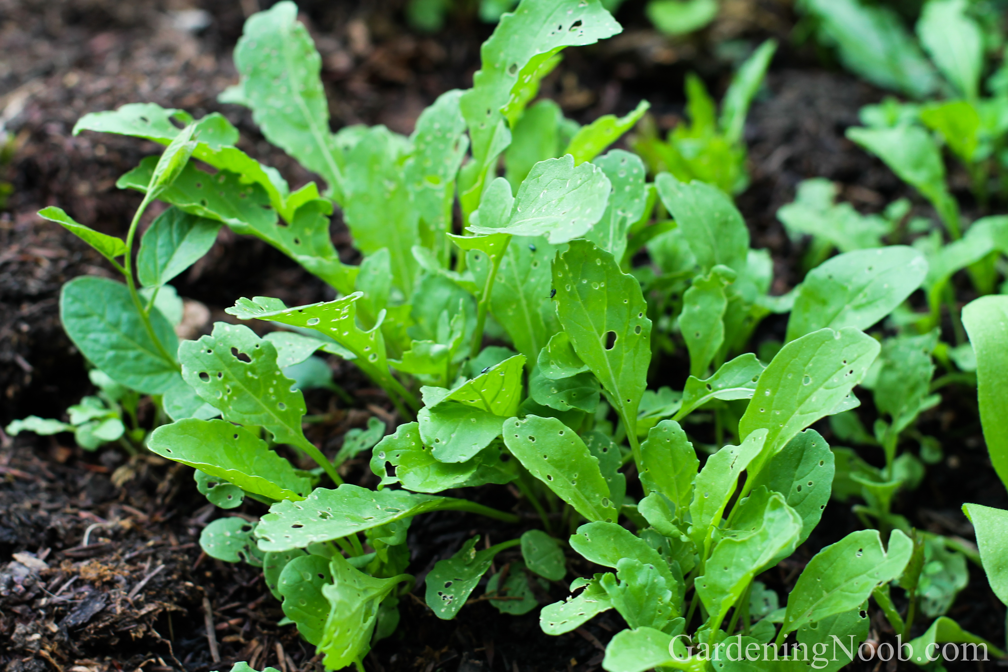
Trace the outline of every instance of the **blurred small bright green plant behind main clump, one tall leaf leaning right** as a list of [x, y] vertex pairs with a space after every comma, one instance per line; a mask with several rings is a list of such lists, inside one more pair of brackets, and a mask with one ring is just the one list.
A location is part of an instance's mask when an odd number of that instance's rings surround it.
[[776, 51], [767, 40], [743, 62], [721, 104], [721, 113], [697, 75], [686, 77], [686, 114], [662, 140], [648, 119], [631, 144], [652, 174], [667, 170], [680, 181], [694, 179], [714, 184], [725, 193], [739, 193], [749, 185], [743, 138], [749, 106], [766, 76]]

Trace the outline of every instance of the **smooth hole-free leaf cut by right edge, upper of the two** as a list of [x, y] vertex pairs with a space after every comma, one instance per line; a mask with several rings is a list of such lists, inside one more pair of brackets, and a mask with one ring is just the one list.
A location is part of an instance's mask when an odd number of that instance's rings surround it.
[[[977, 395], [987, 450], [1008, 487], [1008, 296], [983, 296], [967, 304], [963, 325], [977, 354]], [[1004, 594], [1008, 597], [1008, 590]]]

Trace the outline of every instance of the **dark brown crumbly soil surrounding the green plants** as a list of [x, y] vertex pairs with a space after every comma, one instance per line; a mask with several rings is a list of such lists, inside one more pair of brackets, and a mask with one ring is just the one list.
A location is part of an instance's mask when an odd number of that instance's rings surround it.
[[[123, 234], [140, 198], [118, 190], [115, 180], [157, 151], [131, 138], [75, 137], [74, 123], [83, 114], [141, 101], [197, 116], [221, 111], [241, 130], [246, 151], [279, 168], [293, 186], [311, 179], [264, 141], [247, 111], [216, 102], [217, 94], [237, 79], [230, 53], [245, 16], [268, 4], [0, 0], [0, 181], [13, 186], [0, 207], [3, 424], [28, 414], [59, 417], [68, 405], [92, 392], [82, 358], [59, 325], [58, 290], [77, 275], [111, 276], [96, 253], [35, 213], [57, 205], [84, 224]], [[775, 219], [800, 180], [822, 176], [840, 182], [842, 197], [862, 212], [878, 212], [900, 196], [927, 212], [881, 163], [844, 137], [844, 130], [857, 123], [858, 109], [881, 100], [883, 93], [832, 68], [811, 47], [795, 46], [794, 16], [786, 0], [725, 0], [711, 28], [680, 40], [656, 34], [643, 16], [643, 4], [628, 0], [621, 9], [623, 34], [569, 49], [564, 63], [545, 82], [543, 95], [581, 122], [625, 113], [647, 98], [659, 126], [669, 128], [683, 114], [687, 70], [700, 73], [720, 94], [735, 54], [767, 37], [779, 39], [768, 85], [746, 130], [752, 184], [738, 198], [753, 245], [773, 256], [775, 293], [800, 281], [800, 245], [792, 245]], [[398, 0], [299, 5], [323, 55], [334, 128], [383, 123], [408, 133], [437, 95], [469, 86], [479, 45], [492, 30], [458, 10], [439, 33], [418, 34], [405, 25]], [[155, 215], [151, 212], [146, 221]], [[355, 252], [339, 217], [333, 237], [344, 260], [353, 262]], [[322, 283], [279, 253], [227, 230], [207, 259], [173, 284], [180, 295], [205, 304], [212, 319], [230, 319], [223, 308], [243, 295], [278, 296], [288, 304], [330, 297]], [[757, 339], [779, 338], [782, 329], [781, 320], [768, 319]], [[328, 393], [307, 397], [309, 413], [326, 416], [312, 425], [310, 438], [330, 454], [348, 429], [364, 426], [369, 416], [394, 419], [387, 401], [368, 389], [352, 367], [338, 369], [337, 378], [354, 394], [353, 406]], [[1008, 508], [1008, 497], [987, 458], [972, 391], [951, 386], [942, 396], [942, 404], [922, 417], [920, 429], [942, 442], [944, 461], [928, 468], [919, 489], [904, 494], [895, 510], [922, 529], [969, 540], [972, 528], [960, 511], [964, 500]], [[873, 418], [864, 412], [870, 426]], [[829, 425], [820, 425], [832, 441]], [[66, 434], [12, 439], [0, 433], [0, 439], [4, 670], [204, 672], [227, 671], [243, 660], [256, 669], [322, 669], [292, 628], [276, 626], [282, 614], [259, 570], [201, 553], [200, 530], [219, 512], [197, 492], [187, 467], [150, 455], [127, 457], [116, 447], [86, 452]], [[871, 451], [864, 456], [878, 461]], [[374, 477], [358, 460], [348, 465], [347, 478], [373, 485]], [[511, 617], [477, 600], [461, 619], [443, 622], [426, 609], [422, 577], [437, 559], [473, 534], [482, 535], [481, 544], [491, 544], [533, 526], [525, 502], [508, 489], [477, 489], [467, 491], [467, 497], [516, 510], [529, 520], [508, 526], [454, 513], [416, 520], [409, 545], [417, 587], [400, 603], [403, 626], [375, 646], [365, 665], [377, 672], [601, 669], [606, 642], [625, 627], [612, 612], [552, 638], [541, 633], [534, 611]], [[236, 511], [255, 519], [265, 508], [247, 502]], [[832, 503], [798, 553], [762, 579], [778, 590], [788, 589], [816, 549], [860, 528], [849, 506]], [[504, 553], [497, 562], [517, 557]], [[592, 571], [573, 554], [569, 561], [575, 573]], [[538, 597], [545, 603], [565, 594], [565, 585], [555, 583]], [[1000, 643], [1004, 613], [983, 572], [971, 566], [970, 585], [950, 615], [964, 628]], [[878, 615], [872, 624], [875, 639], [892, 638]], [[923, 620], [918, 621], [914, 634], [923, 627]], [[880, 666], [872, 661], [853, 667], [877, 672]], [[886, 665], [887, 672], [895, 669], [893, 663]]]

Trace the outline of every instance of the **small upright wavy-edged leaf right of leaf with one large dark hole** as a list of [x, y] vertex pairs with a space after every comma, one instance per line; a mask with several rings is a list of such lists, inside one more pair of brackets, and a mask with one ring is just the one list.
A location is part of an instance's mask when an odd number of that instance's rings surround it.
[[725, 287], [736, 273], [727, 266], [715, 266], [708, 275], [694, 278], [682, 295], [679, 329], [689, 351], [689, 375], [703, 376], [725, 342]]

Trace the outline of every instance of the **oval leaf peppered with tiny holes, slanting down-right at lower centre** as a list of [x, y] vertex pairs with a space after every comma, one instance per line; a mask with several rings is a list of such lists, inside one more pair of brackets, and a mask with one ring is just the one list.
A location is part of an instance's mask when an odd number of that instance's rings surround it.
[[522, 466], [585, 518], [619, 518], [598, 459], [578, 433], [556, 418], [511, 418], [504, 422], [504, 443]]

